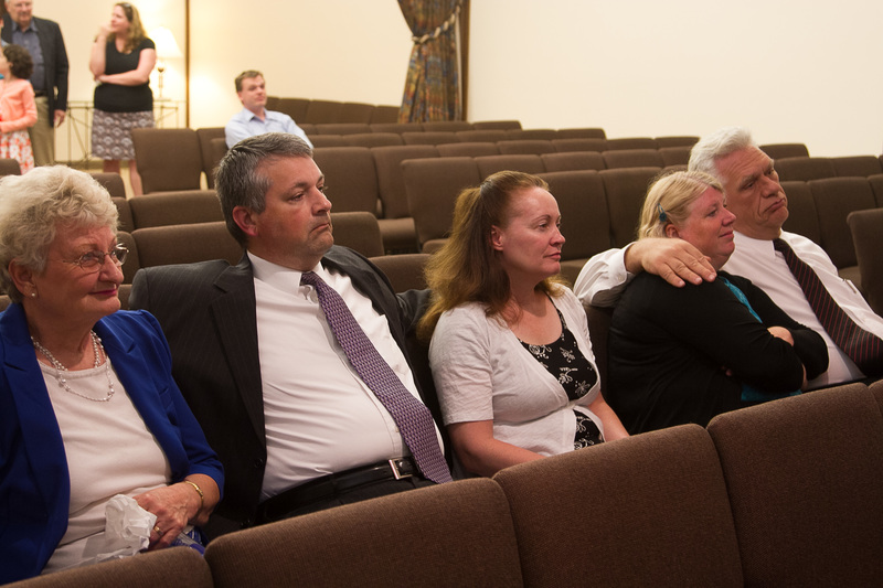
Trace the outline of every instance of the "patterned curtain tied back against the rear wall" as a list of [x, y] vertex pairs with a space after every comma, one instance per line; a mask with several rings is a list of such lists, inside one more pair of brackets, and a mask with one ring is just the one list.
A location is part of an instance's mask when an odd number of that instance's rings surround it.
[[460, 0], [398, 0], [398, 7], [414, 41], [398, 120], [460, 120]]

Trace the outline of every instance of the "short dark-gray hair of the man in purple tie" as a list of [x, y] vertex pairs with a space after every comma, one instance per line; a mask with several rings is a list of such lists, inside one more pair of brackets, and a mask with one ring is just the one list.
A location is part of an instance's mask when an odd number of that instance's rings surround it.
[[262, 167], [279, 158], [312, 158], [312, 148], [304, 139], [287, 132], [267, 132], [248, 137], [234, 145], [215, 172], [215, 189], [227, 231], [245, 247], [248, 236], [233, 220], [233, 209], [244, 206], [262, 213], [270, 180]]

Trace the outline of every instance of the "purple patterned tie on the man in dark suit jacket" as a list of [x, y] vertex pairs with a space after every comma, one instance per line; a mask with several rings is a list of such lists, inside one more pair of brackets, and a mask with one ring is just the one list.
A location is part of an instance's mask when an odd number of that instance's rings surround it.
[[423, 474], [439, 484], [450, 482], [450, 470], [438, 446], [429, 409], [405, 388], [333, 288], [313, 271], [306, 271], [300, 278], [300, 284], [316, 288], [319, 304], [334, 338], [347, 353], [347, 359], [355, 368], [355, 373], [392, 415]]

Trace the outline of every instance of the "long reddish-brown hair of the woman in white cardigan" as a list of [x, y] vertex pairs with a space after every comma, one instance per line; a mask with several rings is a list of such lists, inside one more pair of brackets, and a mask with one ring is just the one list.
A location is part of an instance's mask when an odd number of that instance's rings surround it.
[[[450, 238], [426, 265], [426, 282], [432, 290], [429, 308], [417, 325], [417, 336], [433, 336], [439, 317], [466, 302], [482, 302], [488, 317], [500, 314], [509, 302], [509, 275], [491, 246], [491, 227], [507, 226], [512, 211], [512, 194], [528, 188], [549, 190], [542, 178], [518, 171], [501, 171], [485, 179], [478, 188], [467, 188], [454, 206]], [[546, 278], [538, 289], [560, 296]]]

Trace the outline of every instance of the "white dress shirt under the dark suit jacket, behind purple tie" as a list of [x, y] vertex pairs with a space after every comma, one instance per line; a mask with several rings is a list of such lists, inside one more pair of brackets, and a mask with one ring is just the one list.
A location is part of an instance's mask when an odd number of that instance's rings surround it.
[[[267, 439], [262, 500], [328, 473], [409, 455], [392, 416], [334, 339], [316, 290], [300, 286], [301, 272], [252, 253], [248, 257], [257, 300]], [[321, 264], [313, 271], [343, 298], [386, 363], [419, 398], [386, 318], [349, 276]]]

